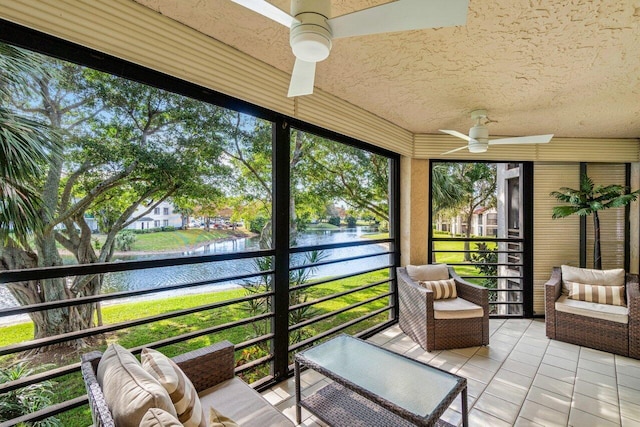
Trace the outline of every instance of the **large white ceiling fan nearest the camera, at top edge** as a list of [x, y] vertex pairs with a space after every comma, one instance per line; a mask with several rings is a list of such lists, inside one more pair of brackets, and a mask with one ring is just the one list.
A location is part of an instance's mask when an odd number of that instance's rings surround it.
[[329, 56], [333, 39], [464, 25], [468, 5], [468, 0], [397, 0], [329, 18], [331, 0], [291, 0], [291, 15], [264, 0], [232, 1], [291, 29], [296, 62], [289, 97], [313, 93], [316, 63]]

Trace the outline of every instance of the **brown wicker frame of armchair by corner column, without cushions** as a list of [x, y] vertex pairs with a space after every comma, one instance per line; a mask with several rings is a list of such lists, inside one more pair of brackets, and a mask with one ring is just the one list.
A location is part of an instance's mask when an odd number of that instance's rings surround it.
[[483, 308], [482, 317], [436, 319], [433, 292], [414, 282], [404, 267], [397, 269], [400, 328], [427, 351], [489, 344], [489, 291], [466, 282], [449, 267], [459, 298]]

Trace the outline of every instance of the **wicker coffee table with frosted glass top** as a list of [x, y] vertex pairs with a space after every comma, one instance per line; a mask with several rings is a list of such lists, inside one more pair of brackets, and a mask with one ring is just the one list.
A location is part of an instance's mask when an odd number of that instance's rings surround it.
[[[333, 382], [301, 398], [300, 369]], [[467, 380], [348, 335], [295, 356], [296, 420], [301, 408], [331, 426], [446, 426], [440, 416], [462, 393], [468, 425]]]

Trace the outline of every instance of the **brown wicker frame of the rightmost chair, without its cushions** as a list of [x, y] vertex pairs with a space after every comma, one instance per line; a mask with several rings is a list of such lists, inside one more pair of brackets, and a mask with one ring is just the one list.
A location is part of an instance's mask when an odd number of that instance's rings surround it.
[[640, 290], [638, 275], [626, 275], [629, 322], [620, 323], [565, 313], [555, 308], [562, 293], [562, 270], [554, 267], [545, 283], [547, 337], [609, 353], [640, 359]]

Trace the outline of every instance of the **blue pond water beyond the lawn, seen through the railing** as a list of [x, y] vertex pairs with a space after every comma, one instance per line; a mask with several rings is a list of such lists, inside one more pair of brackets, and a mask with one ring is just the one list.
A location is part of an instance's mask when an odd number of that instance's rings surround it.
[[[375, 232], [367, 227], [341, 228], [337, 230], [308, 231], [300, 233], [297, 239], [297, 246], [322, 245], [341, 242], [352, 242], [354, 240], [366, 239], [364, 236]], [[235, 240], [226, 240], [215, 242], [195, 251], [183, 252], [176, 254], [162, 255], [138, 255], [138, 256], [120, 256], [114, 257], [117, 260], [133, 260], [133, 259], [152, 259], [167, 256], [180, 255], [197, 255], [197, 254], [223, 254], [232, 252], [246, 252], [259, 249], [258, 238], [241, 238]], [[367, 255], [374, 253], [383, 253], [388, 250], [388, 245], [367, 245], [349, 248], [333, 249], [323, 252], [324, 260], [341, 259], [358, 255]], [[292, 257], [292, 265], [300, 265], [304, 263], [304, 254], [296, 254]], [[387, 265], [389, 263], [388, 255], [380, 255], [371, 258], [365, 258], [357, 261], [341, 262], [326, 266], [321, 266], [311, 272], [311, 277], [337, 276], [358, 271], [365, 271], [377, 266]], [[248, 274], [258, 271], [255, 263], [251, 259], [231, 260], [208, 262], [202, 264], [191, 264], [183, 266], [172, 266], [162, 268], [150, 268], [143, 270], [123, 271], [115, 273], [107, 273], [104, 275], [103, 292], [118, 292], [128, 290], [139, 290], [148, 288], [162, 288], [169, 285], [176, 285], [190, 282], [206, 282], [219, 278]], [[138, 299], [158, 298], [178, 293], [184, 295], [186, 293], [202, 293], [212, 290], [221, 290], [242, 286], [246, 283], [240, 281], [225, 281], [217, 284], [198, 286], [179, 291], [167, 291], [158, 295], [149, 295], [145, 297], [136, 297]], [[124, 300], [120, 299], [119, 302]], [[11, 296], [9, 291], [0, 286], [0, 308], [15, 307], [17, 302]], [[15, 321], [16, 316], [11, 316]], [[22, 318], [22, 317], [20, 317]], [[8, 318], [0, 318], [0, 323], [5, 323]]]

